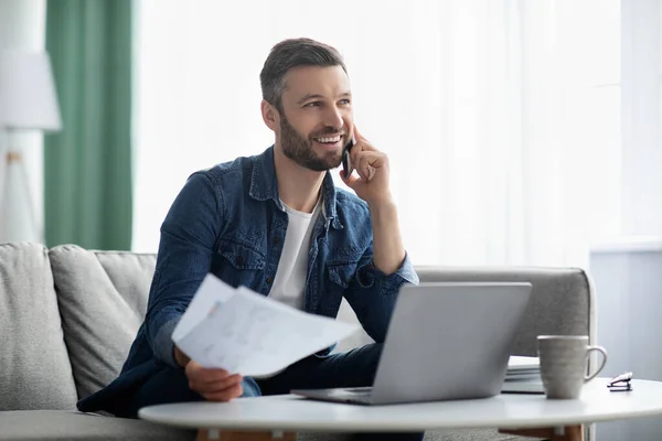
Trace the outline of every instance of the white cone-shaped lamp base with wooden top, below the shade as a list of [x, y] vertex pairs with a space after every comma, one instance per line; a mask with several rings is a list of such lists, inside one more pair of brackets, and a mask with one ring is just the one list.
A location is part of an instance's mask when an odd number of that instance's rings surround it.
[[0, 197], [0, 243], [43, 243], [34, 215], [30, 181], [21, 149], [14, 141], [17, 133], [8, 130], [8, 149]]

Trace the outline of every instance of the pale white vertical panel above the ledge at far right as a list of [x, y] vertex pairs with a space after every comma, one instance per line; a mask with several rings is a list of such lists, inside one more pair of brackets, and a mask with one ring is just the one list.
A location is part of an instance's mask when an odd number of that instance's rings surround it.
[[662, 0], [621, 0], [623, 236], [662, 237]]

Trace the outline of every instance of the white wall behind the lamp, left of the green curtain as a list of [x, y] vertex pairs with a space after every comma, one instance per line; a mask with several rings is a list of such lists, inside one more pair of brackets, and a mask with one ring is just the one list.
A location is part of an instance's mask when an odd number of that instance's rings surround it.
[[[42, 51], [45, 44], [45, 0], [0, 0], [0, 49]], [[0, 133], [0, 195], [4, 181], [4, 148], [7, 139]], [[43, 136], [40, 132], [12, 137], [14, 147], [23, 153], [32, 195], [33, 211], [40, 228], [36, 241], [42, 241], [43, 230]], [[18, 144], [18, 146], [17, 146]], [[0, 201], [1, 203], [1, 201]], [[0, 213], [0, 216], [7, 215]]]

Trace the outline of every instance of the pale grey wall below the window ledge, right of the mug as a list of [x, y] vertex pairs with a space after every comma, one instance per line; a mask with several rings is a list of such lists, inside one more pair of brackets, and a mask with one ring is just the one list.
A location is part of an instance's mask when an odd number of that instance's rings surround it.
[[[609, 354], [601, 377], [629, 370], [636, 379], [662, 380], [661, 268], [660, 240], [623, 240], [592, 250], [598, 344]], [[662, 418], [599, 422], [596, 433], [597, 441], [655, 441], [662, 438]]]

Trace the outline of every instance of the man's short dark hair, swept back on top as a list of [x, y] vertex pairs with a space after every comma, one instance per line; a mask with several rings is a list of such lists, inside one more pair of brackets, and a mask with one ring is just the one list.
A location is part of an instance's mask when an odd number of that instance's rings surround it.
[[328, 44], [311, 39], [281, 41], [271, 47], [259, 73], [263, 98], [279, 111], [282, 110], [285, 75], [289, 69], [298, 66], [341, 66], [345, 73], [348, 72], [340, 53]]

